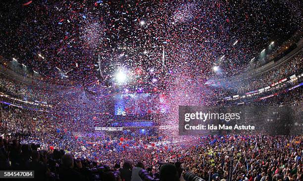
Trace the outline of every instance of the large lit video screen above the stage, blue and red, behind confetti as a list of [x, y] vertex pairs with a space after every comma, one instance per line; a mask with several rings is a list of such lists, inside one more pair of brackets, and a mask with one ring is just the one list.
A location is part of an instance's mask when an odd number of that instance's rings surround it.
[[162, 94], [131, 93], [115, 96], [115, 115], [139, 115], [166, 113]]

